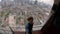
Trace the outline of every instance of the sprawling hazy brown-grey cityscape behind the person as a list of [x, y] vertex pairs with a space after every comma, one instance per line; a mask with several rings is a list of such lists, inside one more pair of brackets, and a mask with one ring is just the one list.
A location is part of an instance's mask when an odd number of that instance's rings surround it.
[[37, 2], [36, 4], [34, 3], [35, 1], [29, 0], [3, 0], [0, 3], [1, 24], [6, 25], [8, 23], [10, 26], [14, 26], [12, 29], [16, 31], [22, 29], [24, 30], [24, 25], [27, 22], [27, 18], [32, 16], [34, 18], [33, 29], [41, 29], [41, 27], [44, 25], [43, 23], [45, 23], [50, 14], [49, 11], [51, 10], [52, 6], [41, 2]]

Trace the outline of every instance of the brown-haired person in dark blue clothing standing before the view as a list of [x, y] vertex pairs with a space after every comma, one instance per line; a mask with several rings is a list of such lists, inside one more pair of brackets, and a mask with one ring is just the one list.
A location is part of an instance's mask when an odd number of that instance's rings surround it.
[[33, 28], [33, 17], [29, 17], [28, 23], [26, 24], [26, 34], [32, 34], [32, 28]]

